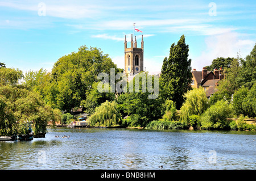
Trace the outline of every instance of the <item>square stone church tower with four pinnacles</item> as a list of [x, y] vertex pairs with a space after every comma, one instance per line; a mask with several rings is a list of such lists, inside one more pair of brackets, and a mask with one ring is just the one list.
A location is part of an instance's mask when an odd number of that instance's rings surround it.
[[127, 48], [125, 36], [125, 70], [123, 73], [127, 74], [128, 77], [143, 71], [143, 49], [143, 35], [141, 39], [141, 48], [137, 47], [136, 36], [133, 41], [133, 35], [131, 35], [131, 48]]

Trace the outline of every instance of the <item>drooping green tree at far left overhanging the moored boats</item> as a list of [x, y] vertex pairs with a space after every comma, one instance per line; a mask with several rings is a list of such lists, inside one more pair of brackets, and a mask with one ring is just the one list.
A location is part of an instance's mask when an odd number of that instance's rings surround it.
[[2, 135], [26, 134], [30, 125], [35, 134], [46, 133], [49, 121], [54, 125], [59, 119], [58, 111], [45, 105], [37, 92], [16, 86], [0, 87], [0, 107]]

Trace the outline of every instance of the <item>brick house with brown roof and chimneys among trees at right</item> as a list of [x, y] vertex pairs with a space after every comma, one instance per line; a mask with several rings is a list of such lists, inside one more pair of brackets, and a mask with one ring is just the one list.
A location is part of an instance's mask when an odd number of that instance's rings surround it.
[[202, 71], [193, 69], [192, 74], [191, 87], [199, 88], [202, 86], [208, 98], [217, 90], [218, 81], [224, 78], [224, 70], [222, 68], [220, 70], [214, 69], [213, 71], [208, 71], [207, 68], [203, 68]]

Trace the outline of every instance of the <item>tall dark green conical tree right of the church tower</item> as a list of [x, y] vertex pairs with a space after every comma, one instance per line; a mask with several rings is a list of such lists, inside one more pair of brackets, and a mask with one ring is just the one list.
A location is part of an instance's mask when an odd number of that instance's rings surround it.
[[188, 51], [185, 36], [182, 35], [176, 45], [171, 45], [169, 58], [164, 58], [159, 79], [160, 96], [165, 100], [173, 100], [177, 109], [184, 102], [183, 94], [191, 89], [191, 59], [188, 60]]

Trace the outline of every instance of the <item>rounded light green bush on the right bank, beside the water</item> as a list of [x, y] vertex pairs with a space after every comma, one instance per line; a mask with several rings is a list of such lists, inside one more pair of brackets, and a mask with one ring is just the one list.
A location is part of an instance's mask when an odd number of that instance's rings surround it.
[[232, 114], [232, 106], [224, 100], [218, 100], [210, 106], [201, 116], [201, 128], [227, 129], [228, 117]]

